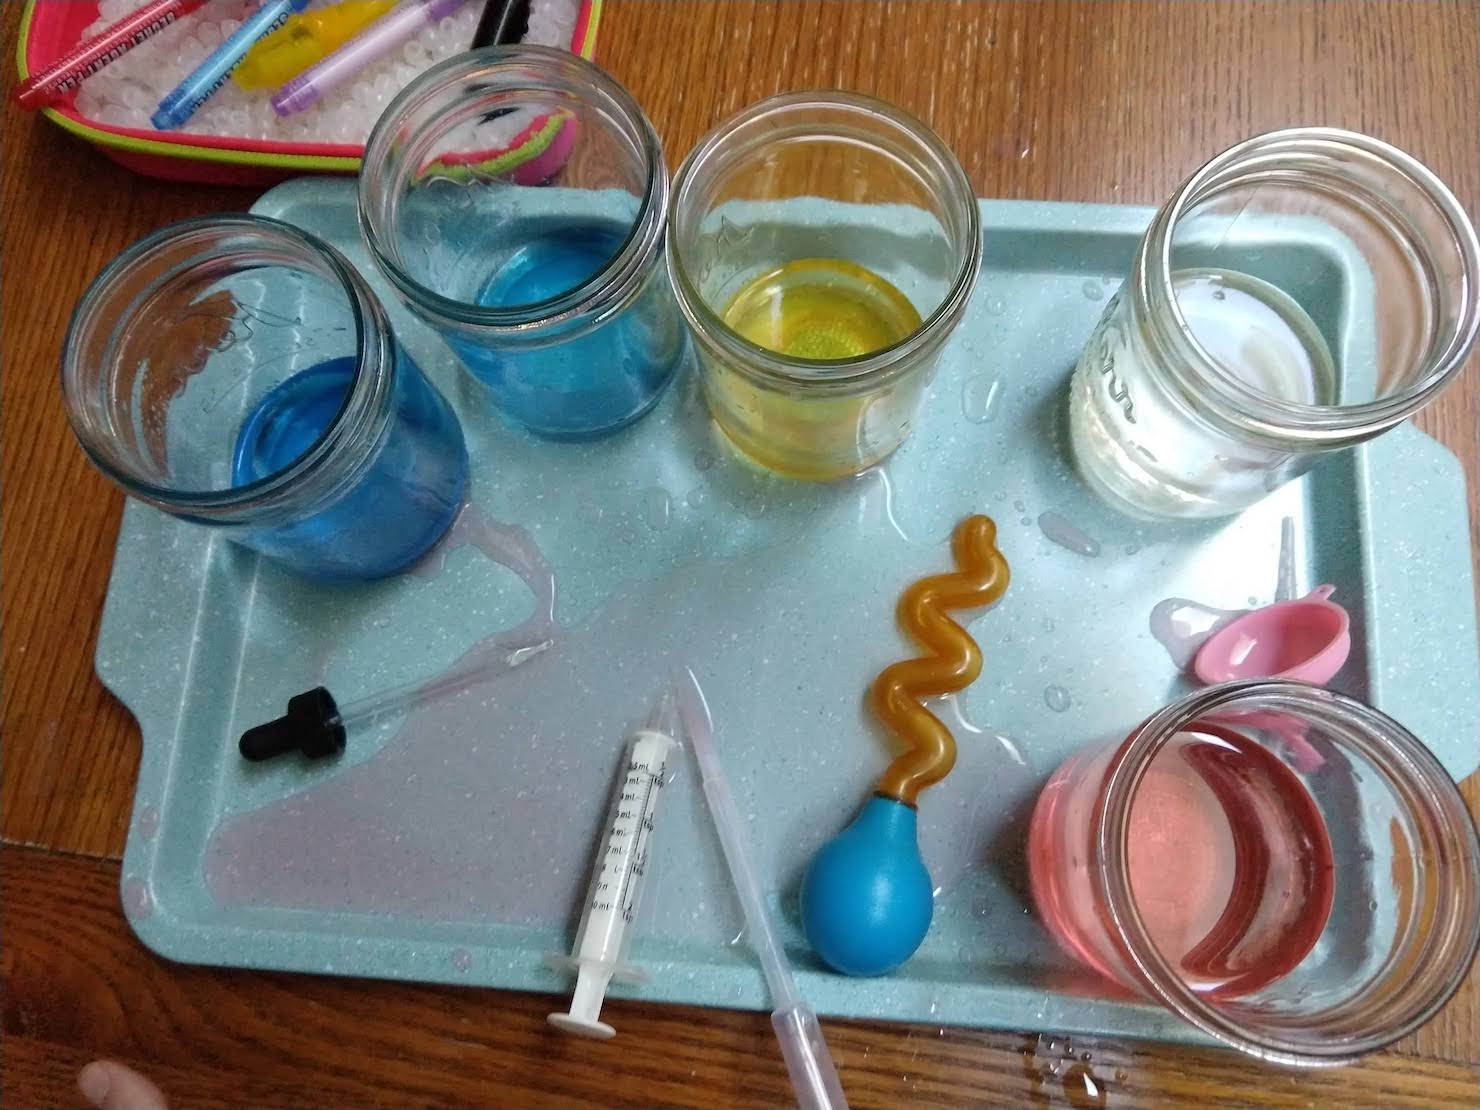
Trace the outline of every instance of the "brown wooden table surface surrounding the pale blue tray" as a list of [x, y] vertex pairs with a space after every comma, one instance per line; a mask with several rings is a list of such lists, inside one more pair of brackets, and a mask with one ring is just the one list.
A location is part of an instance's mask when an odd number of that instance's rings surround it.
[[[6, 46], [19, 3], [3, 7]], [[672, 163], [786, 89], [875, 93], [932, 123], [986, 197], [1156, 203], [1248, 135], [1354, 127], [1480, 200], [1474, 3], [608, 0], [601, 62]], [[176, 1106], [781, 1106], [764, 1014], [614, 1003], [562, 1037], [548, 999], [182, 966], [118, 904], [138, 728], [92, 669], [123, 497], [62, 416], [58, 349], [98, 269], [247, 189], [133, 176], [9, 107], [3, 181], [3, 1103], [77, 1101], [99, 1055]], [[1477, 474], [1480, 379], [1421, 423]], [[1474, 490], [1471, 490], [1471, 499]], [[1476, 512], [1471, 503], [1471, 521]], [[1468, 604], [1468, 599], [1467, 599]], [[1480, 784], [1467, 783], [1480, 810]], [[854, 1106], [1480, 1106], [1480, 984], [1388, 1052], [1288, 1073], [1221, 1051], [1052, 1030], [829, 1021]]]

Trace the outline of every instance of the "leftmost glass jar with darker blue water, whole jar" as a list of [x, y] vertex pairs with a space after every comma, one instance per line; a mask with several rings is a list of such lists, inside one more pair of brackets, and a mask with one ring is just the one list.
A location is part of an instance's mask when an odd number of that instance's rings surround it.
[[329, 244], [167, 226], [98, 275], [62, 349], [77, 440], [124, 493], [315, 579], [416, 562], [468, 485], [457, 417]]

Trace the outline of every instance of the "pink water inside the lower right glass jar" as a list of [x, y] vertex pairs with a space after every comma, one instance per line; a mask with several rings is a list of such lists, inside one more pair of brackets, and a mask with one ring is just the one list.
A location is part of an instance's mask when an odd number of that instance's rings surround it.
[[[1135, 986], [1091, 875], [1092, 810], [1114, 749], [1076, 756], [1043, 789], [1029, 835], [1035, 901], [1079, 959]], [[1131, 804], [1128, 870], [1162, 956], [1194, 990], [1248, 995], [1288, 974], [1331, 913], [1325, 821], [1262, 744], [1200, 722], [1153, 761]]]

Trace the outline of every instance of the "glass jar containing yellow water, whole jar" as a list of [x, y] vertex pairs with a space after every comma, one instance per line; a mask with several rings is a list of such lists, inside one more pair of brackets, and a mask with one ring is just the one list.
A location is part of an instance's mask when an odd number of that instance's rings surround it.
[[669, 235], [709, 411], [798, 478], [857, 474], [904, 443], [981, 263], [946, 144], [841, 92], [773, 96], [704, 136]]

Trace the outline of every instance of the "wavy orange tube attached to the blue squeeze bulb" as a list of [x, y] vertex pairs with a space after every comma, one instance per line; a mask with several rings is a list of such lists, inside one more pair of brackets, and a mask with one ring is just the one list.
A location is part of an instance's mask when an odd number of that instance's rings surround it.
[[968, 517], [950, 537], [959, 570], [921, 579], [900, 595], [900, 625], [931, 654], [892, 663], [873, 682], [875, 716], [910, 747], [879, 780], [885, 798], [915, 805], [956, 762], [950, 730], [919, 699], [955, 694], [981, 673], [981, 648], [946, 610], [990, 605], [1006, 591], [1008, 562], [996, 539], [990, 517]]

